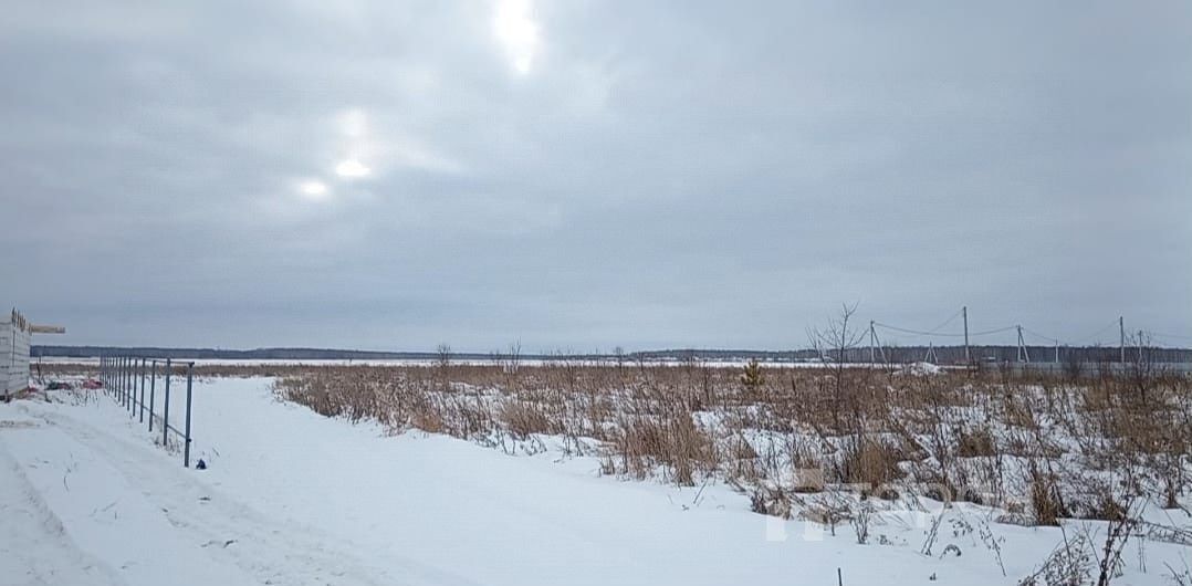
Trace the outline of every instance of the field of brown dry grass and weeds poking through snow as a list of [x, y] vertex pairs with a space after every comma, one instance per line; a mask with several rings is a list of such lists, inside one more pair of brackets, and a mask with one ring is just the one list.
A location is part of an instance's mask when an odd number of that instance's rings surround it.
[[[604, 473], [678, 485], [721, 479], [789, 515], [808, 492], [997, 504], [1037, 523], [1106, 518], [1130, 470], [1178, 505], [1192, 478], [1192, 381], [1156, 370], [1092, 378], [689, 362], [542, 366], [203, 366], [271, 375], [313, 411], [507, 451], [557, 441]], [[809, 472], [812, 470], [812, 472]], [[809, 476], [817, 476], [809, 482]], [[833, 505], [834, 506], [834, 505]]]

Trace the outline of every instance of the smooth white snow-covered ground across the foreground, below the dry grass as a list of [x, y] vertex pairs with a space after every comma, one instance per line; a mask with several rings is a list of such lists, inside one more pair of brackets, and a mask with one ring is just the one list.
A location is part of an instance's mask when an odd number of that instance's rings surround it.
[[[989, 511], [956, 505], [935, 555], [920, 549], [938, 507], [884, 513], [859, 546], [848, 525], [752, 513], [724, 485], [389, 436], [278, 403], [271, 384], [197, 381], [205, 470], [101, 393], [0, 405], [0, 584], [826, 585], [838, 568], [845, 585], [1014, 584], [1086, 525], [986, 525]], [[1172, 584], [1167, 566], [1188, 563], [1184, 546], [1137, 540], [1115, 584]]]

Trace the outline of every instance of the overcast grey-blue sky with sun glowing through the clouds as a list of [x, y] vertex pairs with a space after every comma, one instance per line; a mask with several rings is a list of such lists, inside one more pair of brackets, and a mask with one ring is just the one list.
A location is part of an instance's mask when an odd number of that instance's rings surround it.
[[1192, 344], [1182, 0], [4, 12], [41, 343], [788, 349], [857, 304]]

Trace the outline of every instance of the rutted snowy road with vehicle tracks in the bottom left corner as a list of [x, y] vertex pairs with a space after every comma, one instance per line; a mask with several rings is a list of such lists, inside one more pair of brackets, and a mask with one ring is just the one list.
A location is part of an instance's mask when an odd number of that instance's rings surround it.
[[5, 524], [14, 535], [4, 543], [20, 543], [5, 575], [19, 566], [29, 584], [426, 582], [260, 515], [126, 434], [19, 404], [18, 412], [25, 417], [6, 418], [0, 431], [0, 515], [18, 522]]

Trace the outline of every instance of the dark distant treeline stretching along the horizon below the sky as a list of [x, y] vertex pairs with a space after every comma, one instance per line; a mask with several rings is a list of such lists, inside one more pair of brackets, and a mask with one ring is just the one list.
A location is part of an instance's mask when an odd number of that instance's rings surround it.
[[[1053, 362], [1056, 360], [1055, 347], [1026, 347], [1031, 362]], [[1142, 356], [1150, 362], [1192, 362], [1192, 349], [1143, 347]], [[99, 345], [33, 345], [32, 357], [70, 357], [93, 359], [105, 355], [136, 355], [147, 359], [175, 360], [437, 360], [439, 353], [410, 351], [373, 351], [373, 350], [336, 350], [321, 348], [259, 348], [254, 350], [225, 350], [216, 348], [120, 348]], [[881, 347], [875, 349], [877, 362], [924, 362], [940, 364], [964, 362], [964, 347]], [[975, 361], [1013, 362], [1018, 359], [1018, 347], [1014, 345], [974, 345], [969, 355]], [[1126, 347], [1126, 361], [1138, 359], [1138, 347]], [[452, 360], [490, 360], [508, 359], [501, 353], [452, 353]], [[756, 359], [763, 362], [806, 362], [813, 360], [836, 360], [836, 351], [818, 350], [648, 350], [639, 353], [616, 354], [522, 354], [523, 360], [650, 360], [650, 361], [734, 361]], [[1120, 357], [1118, 348], [1109, 347], [1060, 347], [1060, 362], [1116, 362]], [[859, 347], [844, 353], [846, 362], [868, 362], [869, 347]]]

